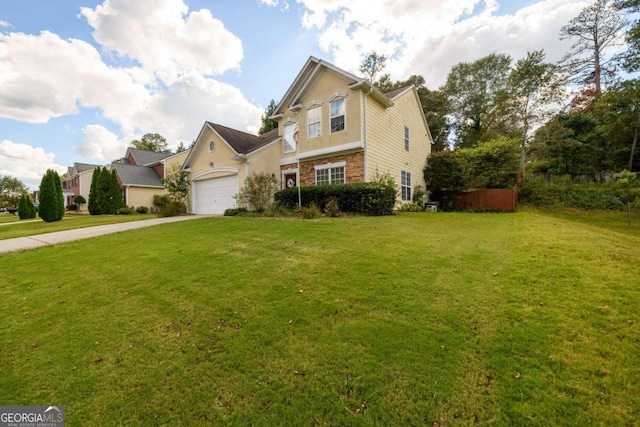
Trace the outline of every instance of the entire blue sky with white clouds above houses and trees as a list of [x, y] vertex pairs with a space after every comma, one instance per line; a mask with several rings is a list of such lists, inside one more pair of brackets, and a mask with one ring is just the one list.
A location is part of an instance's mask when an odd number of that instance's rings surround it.
[[0, 175], [106, 164], [144, 133], [189, 144], [205, 120], [255, 132], [310, 55], [440, 87], [451, 67], [567, 46], [583, 0], [20, 0], [0, 2]]

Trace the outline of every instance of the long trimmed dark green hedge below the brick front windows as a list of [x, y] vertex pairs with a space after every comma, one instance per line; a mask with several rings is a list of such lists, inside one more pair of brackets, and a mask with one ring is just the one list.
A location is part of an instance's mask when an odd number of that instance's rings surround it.
[[[300, 194], [298, 195], [298, 190]], [[332, 184], [308, 187], [291, 187], [275, 194], [274, 200], [288, 208], [312, 203], [324, 210], [330, 200], [338, 202], [342, 212], [364, 215], [391, 215], [396, 203], [396, 189], [380, 183]]]

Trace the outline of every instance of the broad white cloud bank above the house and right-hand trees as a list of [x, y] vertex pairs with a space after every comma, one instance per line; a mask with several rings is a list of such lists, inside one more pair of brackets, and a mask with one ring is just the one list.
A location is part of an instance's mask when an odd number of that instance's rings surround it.
[[[356, 72], [369, 52], [384, 54], [392, 79], [421, 74], [437, 88], [451, 67], [493, 52], [522, 58], [545, 49], [559, 59], [568, 45], [560, 27], [585, 0], [542, 0], [514, 15], [497, 15], [498, 0], [298, 0], [302, 24], [319, 30], [320, 48], [339, 67]], [[507, 1], [507, 0], [504, 0]]]

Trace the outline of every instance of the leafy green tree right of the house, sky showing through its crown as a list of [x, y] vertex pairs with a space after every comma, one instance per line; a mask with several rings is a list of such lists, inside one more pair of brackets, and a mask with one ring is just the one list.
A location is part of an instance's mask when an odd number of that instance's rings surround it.
[[455, 146], [475, 147], [505, 135], [509, 122], [500, 111], [511, 65], [507, 54], [491, 54], [451, 69], [442, 92], [447, 99]]

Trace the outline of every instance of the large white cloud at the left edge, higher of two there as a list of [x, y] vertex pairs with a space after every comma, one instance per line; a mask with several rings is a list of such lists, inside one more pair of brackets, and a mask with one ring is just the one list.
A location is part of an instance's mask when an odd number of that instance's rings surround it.
[[109, 67], [90, 44], [50, 32], [0, 34], [0, 59], [0, 117], [46, 123], [80, 104], [115, 119], [147, 94], [135, 69]]

